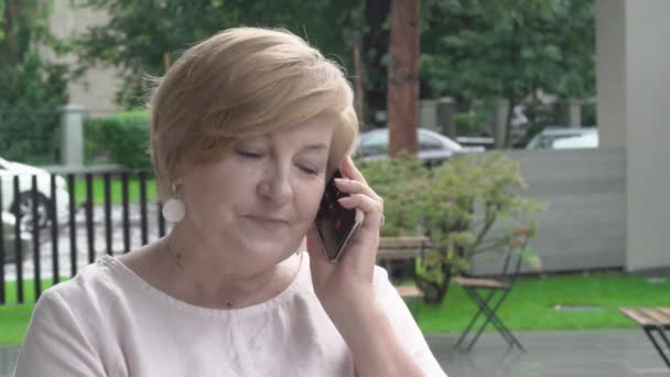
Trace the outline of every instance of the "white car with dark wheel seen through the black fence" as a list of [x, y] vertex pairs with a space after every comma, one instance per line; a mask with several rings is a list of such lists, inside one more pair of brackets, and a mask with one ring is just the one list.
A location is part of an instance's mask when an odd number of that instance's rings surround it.
[[[19, 176], [19, 191], [14, 192], [14, 176]], [[19, 162], [7, 161], [0, 158], [0, 182], [2, 184], [2, 211], [8, 211], [21, 222], [22, 229], [32, 229], [33, 196], [32, 176], [36, 176], [37, 188], [37, 225], [44, 228], [51, 224], [51, 174], [40, 168]], [[56, 219], [58, 223], [67, 219], [69, 195], [67, 183], [57, 175], [56, 188]]]

